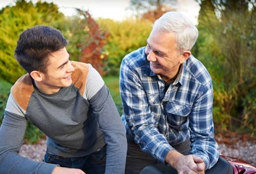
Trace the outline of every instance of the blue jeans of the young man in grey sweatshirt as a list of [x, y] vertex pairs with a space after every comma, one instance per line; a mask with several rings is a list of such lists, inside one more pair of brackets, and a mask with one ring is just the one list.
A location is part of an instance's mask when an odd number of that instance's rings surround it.
[[90, 155], [79, 158], [64, 158], [62, 156], [51, 155], [45, 153], [44, 161], [67, 168], [79, 168], [86, 174], [101, 174], [105, 173], [107, 157], [107, 146], [102, 149], [91, 153]]

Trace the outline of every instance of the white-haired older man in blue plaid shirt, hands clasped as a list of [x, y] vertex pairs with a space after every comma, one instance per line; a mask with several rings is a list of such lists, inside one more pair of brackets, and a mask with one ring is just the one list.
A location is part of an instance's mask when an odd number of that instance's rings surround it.
[[122, 60], [125, 173], [139, 173], [149, 165], [204, 173], [218, 161], [211, 77], [190, 52], [197, 36], [189, 19], [168, 12], [154, 23], [147, 46]]

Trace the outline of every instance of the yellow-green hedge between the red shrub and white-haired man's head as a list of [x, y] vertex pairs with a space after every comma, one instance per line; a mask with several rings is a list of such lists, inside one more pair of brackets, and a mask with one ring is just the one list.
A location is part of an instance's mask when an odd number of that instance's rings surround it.
[[106, 60], [107, 75], [119, 74], [120, 63], [127, 53], [141, 46], [146, 46], [146, 40], [152, 29], [149, 21], [113, 21], [111, 19], [98, 19], [98, 24], [103, 30], [110, 32], [105, 50], [108, 54]]

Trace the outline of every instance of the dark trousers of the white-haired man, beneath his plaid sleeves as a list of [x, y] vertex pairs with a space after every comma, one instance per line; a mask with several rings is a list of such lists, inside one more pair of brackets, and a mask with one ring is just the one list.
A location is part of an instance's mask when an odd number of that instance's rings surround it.
[[[173, 146], [173, 148], [175, 148], [175, 150], [177, 150], [179, 153], [182, 153], [183, 155], [188, 155], [190, 150], [190, 141], [187, 140], [182, 144]], [[135, 143], [128, 143], [125, 173], [138, 174], [141, 172], [141, 170], [143, 170], [143, 168], [150, 165], [166, 166], [165, 164], [156, 160], [156, 158], [153, 158], [147, 153], [144, 153], [143, 151], [141, 151], [141, 148], [139, 147], [139, 145]], [[171, 168], [171, 166], [168, 166], [168, 167]]]

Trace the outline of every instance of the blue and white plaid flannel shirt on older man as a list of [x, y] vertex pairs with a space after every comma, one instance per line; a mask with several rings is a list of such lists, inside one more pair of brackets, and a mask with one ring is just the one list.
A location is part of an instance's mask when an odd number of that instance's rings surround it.
[[165, 92], [160, 75], [152, 72], [145, 47], [129, 53], [120, 67], [120, 96], [128, 142], [165, 163], [172, 145], [190, 138], [189, 154], [211, 168], [219, 158], [212, 121], [212, 82], [204, 65], [192, 55]]

